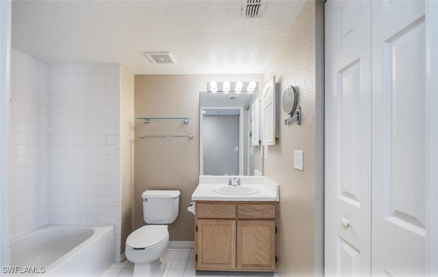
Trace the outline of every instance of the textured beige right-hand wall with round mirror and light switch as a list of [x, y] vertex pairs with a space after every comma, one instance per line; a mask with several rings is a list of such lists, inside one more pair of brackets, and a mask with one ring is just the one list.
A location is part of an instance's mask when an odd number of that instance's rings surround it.
[[[323, 270], [323, 5], [307, 1], [265, 72], [265, 83], [272, 75], [281, 83], [280, 97], [288, 85], [298, 88], [302, 109], [301, 125], [280, 124], [280, 138], [263, 161], [264, 174], [281, 185], [280, 276], [314, 276]], [[280, 109], [283, 122], [287, 114]], [[294, 169], [294, 150], [303, 150], [303, 171]]]

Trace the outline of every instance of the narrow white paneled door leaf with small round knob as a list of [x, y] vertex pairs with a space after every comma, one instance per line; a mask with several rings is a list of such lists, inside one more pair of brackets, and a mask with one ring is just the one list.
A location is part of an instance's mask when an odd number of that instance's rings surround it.
[[370, 275], [370, 1], [327, 1], [325, 274]]

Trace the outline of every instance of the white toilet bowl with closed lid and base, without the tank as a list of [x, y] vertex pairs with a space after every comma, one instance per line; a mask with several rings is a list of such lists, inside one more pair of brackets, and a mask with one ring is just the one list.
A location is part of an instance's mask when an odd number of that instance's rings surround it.
[[146, 225], [128, 236], [125, 254], [135, 264], [133, 276], [159, 276], [166, 268], [160, 261], [169, 244], [167, 225]]

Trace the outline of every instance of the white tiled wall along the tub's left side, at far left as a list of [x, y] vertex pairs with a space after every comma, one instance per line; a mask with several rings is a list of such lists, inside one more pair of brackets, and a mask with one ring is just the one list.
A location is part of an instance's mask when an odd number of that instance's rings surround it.
[[47, 68], [12, 49], [11, 237], [47, 223]]

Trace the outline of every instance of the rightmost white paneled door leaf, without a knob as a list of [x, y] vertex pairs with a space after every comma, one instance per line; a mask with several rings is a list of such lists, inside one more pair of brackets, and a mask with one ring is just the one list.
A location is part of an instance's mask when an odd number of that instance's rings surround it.
[[424, 1], [372, 1], [375, 276], [426, 274], [426, 122]]

